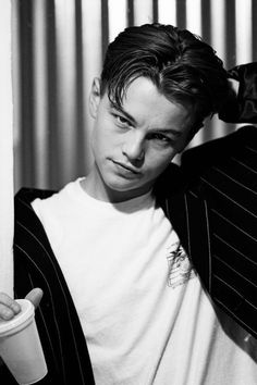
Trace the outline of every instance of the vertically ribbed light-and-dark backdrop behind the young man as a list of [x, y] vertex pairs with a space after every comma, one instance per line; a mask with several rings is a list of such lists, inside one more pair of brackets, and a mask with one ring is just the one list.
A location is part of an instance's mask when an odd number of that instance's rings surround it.
[[[88, 92], [125, 26], [188, 28], [227, 69], [257, 55], [256, 0], [12, 0], [15, 190], [53, 188], [91, 162]], [[235, 129], [213, 119], [193, 146]]]

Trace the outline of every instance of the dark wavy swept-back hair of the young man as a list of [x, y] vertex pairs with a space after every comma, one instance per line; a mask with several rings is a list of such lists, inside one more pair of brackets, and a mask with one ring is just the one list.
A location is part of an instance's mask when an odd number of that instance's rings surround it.
[[192, 136], [229, 95], [228, 74], [215, 50], [187, 29], [159, 23], [125, 28], [108, 47], [101, 96], [118, 105], [137, 77], [149, 78], [172, 102], [192, 108]]

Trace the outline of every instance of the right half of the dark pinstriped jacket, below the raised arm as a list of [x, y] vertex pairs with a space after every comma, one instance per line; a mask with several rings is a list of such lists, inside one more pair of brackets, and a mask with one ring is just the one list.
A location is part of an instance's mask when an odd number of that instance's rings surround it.
[[187, 151], [182, 170], [186, 224], [169, 215], [213, 301], [257, 337], [257, 128]]

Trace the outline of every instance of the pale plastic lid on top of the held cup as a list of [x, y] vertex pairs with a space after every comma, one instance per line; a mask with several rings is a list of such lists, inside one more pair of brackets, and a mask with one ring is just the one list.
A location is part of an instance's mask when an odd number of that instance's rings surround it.
[[22, 325], [35, 313], [34, 305], [28, 299], [15, 299], [21, 306], [21, 311], [12, 320], [0, 320], [0, 337], [2, 334], [12, 331], [14, 327]]

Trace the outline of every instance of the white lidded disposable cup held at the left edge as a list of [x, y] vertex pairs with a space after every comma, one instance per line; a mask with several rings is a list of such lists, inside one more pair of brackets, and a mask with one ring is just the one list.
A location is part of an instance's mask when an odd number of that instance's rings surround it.
[[16, 300], [22, 311], [0, 322], [0, 356], [21, 385], [45, 377], [47, 365], [35, 322], [35, 308], [27, 299]]

